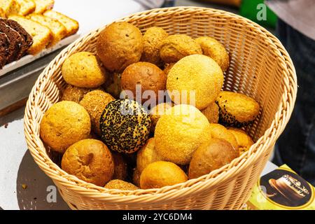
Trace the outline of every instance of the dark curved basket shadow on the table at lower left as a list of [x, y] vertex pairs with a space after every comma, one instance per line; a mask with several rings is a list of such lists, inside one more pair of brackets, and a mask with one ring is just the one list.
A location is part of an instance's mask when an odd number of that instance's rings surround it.
[[[18, 205], [21, 210], [69, 209], [55, 188], [55, 184], [39, 169], [29, 151], [25, 153], [20, 163], [16, 188]], [[52, 193], [48, 189], [52, 189], [53, 193], [56, 193], [55, 202], [46, 200], [48, 194]]]

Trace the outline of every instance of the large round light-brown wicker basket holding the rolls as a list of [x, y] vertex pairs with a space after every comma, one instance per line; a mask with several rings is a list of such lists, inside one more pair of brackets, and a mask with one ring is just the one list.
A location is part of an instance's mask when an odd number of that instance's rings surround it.
[[39, 124], [45, 111], [58, 102], [65, 85], [61, 74], [64, 59], [82, 50], [95, 52], [102, 28], [63, 50], [41, 73], [31, 91], [25, 110], [25, 137], [35, 162], [54, 181], [71, 209], [240, 209], [293, 111], [297, 81], [283, 45], [250, 20], [211, 8], [162, 8], [121, 20], [141, 31], [158, 26], [169, 34], [207, 35], [221, 41], [231, 58], [224, 89], [254, 97], [262, 107], [259, 119], [247, 127], [256, 143], [230, 165], [199, 179], [160, 189], [106, 190], [66, 174], [46, 152]]

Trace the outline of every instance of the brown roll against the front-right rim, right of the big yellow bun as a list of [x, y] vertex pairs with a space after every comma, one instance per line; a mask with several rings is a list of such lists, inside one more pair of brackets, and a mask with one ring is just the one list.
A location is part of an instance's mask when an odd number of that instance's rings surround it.
[[190, 162], [188, 177], [195, 179], [219, 169], [239, 156], [235, 148], [223, 139], [211, 139], [202, 144]]

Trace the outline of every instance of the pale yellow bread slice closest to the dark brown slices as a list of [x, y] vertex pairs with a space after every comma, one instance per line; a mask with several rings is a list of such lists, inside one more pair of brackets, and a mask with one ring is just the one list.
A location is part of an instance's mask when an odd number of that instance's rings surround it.
[[9, 19], [18, 22], [33, 37], [34, 43], [27, 51], [29, 54], [36, 55], [51, 43], [53, 36], [48, 27], [20, 15], [10, 16]]

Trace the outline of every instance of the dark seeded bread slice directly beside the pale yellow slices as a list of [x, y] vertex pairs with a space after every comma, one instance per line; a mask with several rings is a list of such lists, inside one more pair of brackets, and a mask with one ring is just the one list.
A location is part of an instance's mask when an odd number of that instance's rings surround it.
[[18, 22], [15, 22], [14, 20], [6, 20], [6, 25], [9, 25], [11, 28], [15, 29], [15, 31], [18, 31], [18, 33], [24, 39], [24, 43], [21, 45], [20, 52], [16, 58], [18, 60], [26, 54], [27, 50], [29, 50], [33, 44], [33, 38], [20, 24], [18, 24]]

